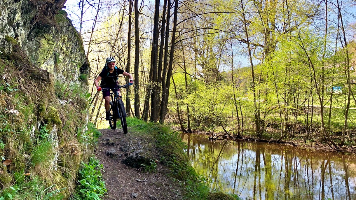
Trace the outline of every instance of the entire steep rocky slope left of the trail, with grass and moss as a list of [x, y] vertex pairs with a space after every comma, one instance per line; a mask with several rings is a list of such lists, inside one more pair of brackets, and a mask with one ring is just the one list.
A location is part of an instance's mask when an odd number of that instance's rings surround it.
[[68, 199], [94, 151], [90, 68], [64, 2], [0, 1], [0, 199]]

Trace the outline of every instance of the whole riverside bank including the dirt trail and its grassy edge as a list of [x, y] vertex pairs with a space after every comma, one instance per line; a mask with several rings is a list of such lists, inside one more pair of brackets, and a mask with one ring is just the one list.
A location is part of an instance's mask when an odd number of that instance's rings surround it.
[[102, 129], [96, 157], [108, 190], [104, 199], [235, 200], [214, 193], [195, 172], [178, 132], [127, 118], [129, 133]]

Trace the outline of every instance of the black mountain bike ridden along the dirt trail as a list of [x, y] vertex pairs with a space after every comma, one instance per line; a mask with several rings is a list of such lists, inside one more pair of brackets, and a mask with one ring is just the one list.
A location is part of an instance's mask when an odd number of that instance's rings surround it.
[[[129, 84], [119, 85], [117, 88], [102, 88], [103, 90], [112, 90], [116, 91], [120, 88], [129, 87]], [[109, 120], [109, 125], [111, 129], [116, 128], [116, 120], [120, 119], [122, 130], [124, 130], [124, 134], [127, 133], [127, 124], [126, 124], [126, 110], [124, 106], [124, 102], [122, 102], [122, 96], [114, 94], [114, 92], [110, 93], [111, 101], [110, 101], [110, 110], [109, 113], [111, 115], [111, 119]]]

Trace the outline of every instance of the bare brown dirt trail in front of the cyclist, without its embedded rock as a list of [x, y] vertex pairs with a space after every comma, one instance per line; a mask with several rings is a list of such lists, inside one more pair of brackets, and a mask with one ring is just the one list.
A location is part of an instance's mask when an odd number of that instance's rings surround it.
[[[140, 137], [137, 134], [125, 134], [122, 129], [102, 129], [103, 135], [99, 138], [96, 148], [96, 157], [104, 165], [103, 177], [108, 194], [106, 200], [148, 199], [148, 200], [181, 200], [183, 191], [177, 182], [173, 182], [167, 174], [170, 170], [157, 162], [156, 172], [148, 173], [141, 169], [132, 168], [122, 164], [128, 156], [124, 146], [133, 146], [133, 143], [154, 143], [149, 137]], [[157, 155], [155, 149], [150, 149], [152, 155]], [[125, 155], [126, 154], [126, 155]], [[158, 159], [158, 158], [157, 158]], [[141, 164], [140, 164], [141, 165]]]

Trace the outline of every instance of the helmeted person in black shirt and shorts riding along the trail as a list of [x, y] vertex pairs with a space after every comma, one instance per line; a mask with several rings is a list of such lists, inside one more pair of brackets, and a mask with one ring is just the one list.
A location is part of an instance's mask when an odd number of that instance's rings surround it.
[[[133, 84], [133, 78], [132, 75], [125, 72], [124, 70], [118, 68], [115, 66], [115, 58], [114, 57], [109, 57], [106, 58], [106, 64], [99, 74], [99, 76], [94, 80], [94, 85], [96, 86], [96, 89], [98, 91], [103, 91], [103, 98], [105, 99], [105, 111], [106, 111], [106, 120], [111, 119], [111, 115], [109, 113], [110, 110], [110, 89], [101, 89], [101, 87], [105, 88], [117, 88], [119, 85], [117, 83], [117, 78], [119, 74], [122, 74], [124, 76], [129, 76], [130, 77], [130, 82], [129, 85]], [[101, 80], [100, 86], [98, 84], [98, 81]], [[112, 89], [111, 89], [112, 90]], [[117, 89], [116, 91], [112, 90], [115, 93], [115, 96], [119, 96], [121, 98], [121, 93], [120, 89]]]

